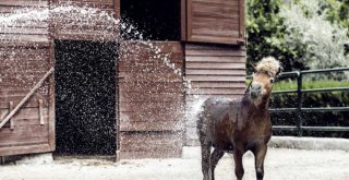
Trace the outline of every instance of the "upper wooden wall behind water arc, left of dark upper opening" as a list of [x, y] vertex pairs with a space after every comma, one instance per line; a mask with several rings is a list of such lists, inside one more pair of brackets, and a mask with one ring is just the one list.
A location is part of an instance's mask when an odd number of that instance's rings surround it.
[[[76, 10], [55, 11], [59, 7], [75, 5], [95, 13], [84, 14]], [[23, 44], [31, 41], [47, 41], [52, 39], [72, 40], [117, 40], [119, 26], [111, 17], [120, 16], [119, 0], [9, 0], [0, 1], [0, 13], [10, 14], [17, 10], [29, 8], [28, 11], [52, 10], [45, 21], [22, 21], [14, 28], [0, 28], [0, 39], [17, 39]], [[68, 8], [65, 9], [68, 10]], [[63, 13], [62, 13], [63, 12]], [[105, 15], [101, 15], [104, 13]], [[100, 14], [99, 14], [100, 13]], [[25, 16], [24, 16], [25, 17]], [[109, 19], [109, 20], [108, 20]], [[10, 32], [9, 32], [10, 31]]]

